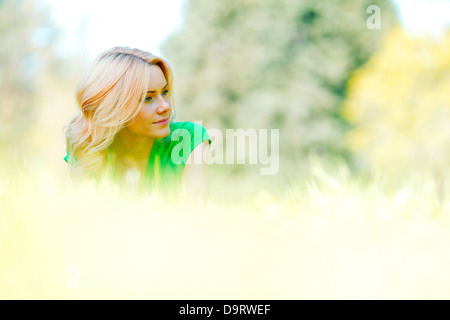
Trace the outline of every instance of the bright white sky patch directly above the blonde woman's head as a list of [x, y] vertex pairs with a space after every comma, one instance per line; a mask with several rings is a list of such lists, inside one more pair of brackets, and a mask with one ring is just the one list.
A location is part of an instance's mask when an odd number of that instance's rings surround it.
[[[64, 50], [83, 45], [95, 57], [115, 46], [160, 54], [158, 45], [180, 23], [183, 0], [41, 0], [53, 7]], [[82, 41], [80, 41], [82, 40]]]

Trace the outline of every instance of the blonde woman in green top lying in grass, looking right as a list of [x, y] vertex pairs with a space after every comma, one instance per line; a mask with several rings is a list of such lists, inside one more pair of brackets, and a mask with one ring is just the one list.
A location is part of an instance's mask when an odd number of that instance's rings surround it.
[[211, 139], [199, 124], [174, 122], [172, 78], [167, 61], [148, 52], [102, 53], [79, 83], [80, 112], [66, 126], [72, 176], [164, 192], [206, 190]]

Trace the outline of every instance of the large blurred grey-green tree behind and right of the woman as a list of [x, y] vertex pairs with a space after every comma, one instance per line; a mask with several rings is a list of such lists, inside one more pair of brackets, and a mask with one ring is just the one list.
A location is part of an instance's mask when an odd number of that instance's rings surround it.
[[[369, 30], [370, 5], [381, 30]], [[386, 0], [189, 1], [162, 52], [180, 116], [208, 127], [279, 128], [281, 153], [343, 155], [338, 106], [351, 70], [396, 21]]]

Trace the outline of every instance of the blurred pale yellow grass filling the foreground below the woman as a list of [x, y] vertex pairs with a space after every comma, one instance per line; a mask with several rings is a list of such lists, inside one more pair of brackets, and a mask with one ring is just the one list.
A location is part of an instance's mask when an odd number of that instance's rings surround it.
[[432, 175], [311, 173], [239, 200], [221, 192], [261, 184], [223, 177], [187, 203], [3, 165], [0, 298], [450, 298], [449, 203]]

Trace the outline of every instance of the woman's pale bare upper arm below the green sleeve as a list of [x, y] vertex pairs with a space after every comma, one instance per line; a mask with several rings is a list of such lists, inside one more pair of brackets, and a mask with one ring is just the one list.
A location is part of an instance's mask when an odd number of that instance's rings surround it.
[[182, 176], [182, 195], [188, 198], [205, 199], [208, 196], [207, 163], [209, 141], [199, 144], [189, 155]]

